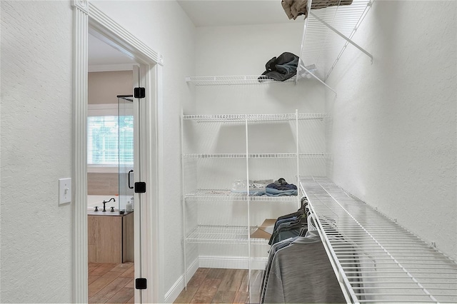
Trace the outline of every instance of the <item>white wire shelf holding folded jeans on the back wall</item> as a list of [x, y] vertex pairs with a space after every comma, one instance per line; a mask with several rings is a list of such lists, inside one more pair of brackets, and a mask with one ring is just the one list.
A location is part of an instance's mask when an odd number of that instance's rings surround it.
[[296, 196], [248, 196], [245, 193], [233, 193], [228, 189], [199, 189], [186, 193], [186, 201], [296, 201]]

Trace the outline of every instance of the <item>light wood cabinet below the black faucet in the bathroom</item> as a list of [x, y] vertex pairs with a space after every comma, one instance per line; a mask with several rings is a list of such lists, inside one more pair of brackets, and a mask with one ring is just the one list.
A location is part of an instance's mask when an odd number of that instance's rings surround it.
[[89, 262], [134, 261], [134, 213], [87, 216]]

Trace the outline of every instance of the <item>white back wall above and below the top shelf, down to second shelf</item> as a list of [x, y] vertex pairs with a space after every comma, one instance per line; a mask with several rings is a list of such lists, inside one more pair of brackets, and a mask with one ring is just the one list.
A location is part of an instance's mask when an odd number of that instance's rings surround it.
[[[199, 76], [260, 76], [265, 64], [288, 51], [298, 55], [302, 24], [200, 27], [196, 44]], [[316, 81], [266, 86], [199, 86], [198, 113], [294, 113], [324, 110]], [[235, 93], [233, 93], [235, 92]]]

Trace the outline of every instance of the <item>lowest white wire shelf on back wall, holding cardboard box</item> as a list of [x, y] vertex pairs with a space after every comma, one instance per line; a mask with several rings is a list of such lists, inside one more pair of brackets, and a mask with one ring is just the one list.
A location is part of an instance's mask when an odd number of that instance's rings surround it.
[[[267, 245], [268, 240], [263, 238], [250, 238], [257, 227], [251, 227], [248, 231], [247, 226], [208, 226], [199, 225], [187, 234], [186, 240], [189, 243], [209, 243], [209, 244], [238, 244], [246, 245]], [[249, 232], [249, 233], [248, 233]]]

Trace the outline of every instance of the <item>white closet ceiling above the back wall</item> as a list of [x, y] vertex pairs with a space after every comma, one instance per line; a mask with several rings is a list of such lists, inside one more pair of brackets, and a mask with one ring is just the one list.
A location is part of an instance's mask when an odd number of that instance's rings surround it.
[[303, 22], [302, 18], [289, 20], [281, 0], [178, 0], [178, 3], [195, 26]]

